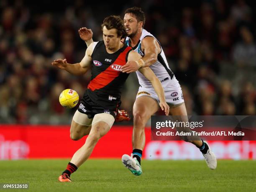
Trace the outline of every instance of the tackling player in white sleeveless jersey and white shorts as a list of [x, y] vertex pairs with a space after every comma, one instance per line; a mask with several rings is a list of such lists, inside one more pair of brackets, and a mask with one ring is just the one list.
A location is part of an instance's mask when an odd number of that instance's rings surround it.
[[[162, 83], [165, 91], [166, 102], [170, 106], [169, 115], [187, 116], [187, 110], [184, 104], [182, 90], [179, 82], [170, 70], [164, 51], [159, 41], [143, 29], [145, 25], [145, 15], [141, 8], [133, 7], [125, 10], [124, 23], [128, 37], [124, 39], [124, 43], [131, 46], [133, 50], [138, 51], [142, 59], [139, 61], [128, 61], [121, 69], [122, 72], [136, 72], [139, 80], [139, 90], [136, 101], [133, 105], [133, 152], [131, 156], [123, 155], [123, 164], [136, 176], [141, 175], [141, 156], [145, 146], [145, 126], [146, 122], [159, 110], [159, 99], [154, 92], [153, 87], [143, 75], [138, 72], [139, 67], [150, 67], [156, 77]], [[86, 41], [87, 46], [93, 42], [92, 31], [86, 28], [79, 31], [80, 37]], [[84, 33], [84, 35], [82, 34]], [[188, 121], [186, 118], [184, 121]], [[205, 157], [207, 166], [210, 169], [216, 169], [217, 160], [215, 154], [210, 150], [206, 142], [197, 139], [197, 141], [189, 141], [197, 146]]]

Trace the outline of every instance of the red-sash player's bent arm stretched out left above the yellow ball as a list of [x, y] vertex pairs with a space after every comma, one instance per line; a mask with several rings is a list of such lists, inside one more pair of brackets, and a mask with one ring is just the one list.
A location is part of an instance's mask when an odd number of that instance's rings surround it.
[[67, 59], [56, 59], [51, 64], [58, 67], [59, 69], [65, 69], [67, 72], [74, 75], [85, 74], [90, 68], [92, 61], [92, 45], [86, 49], [85, 56], [80, 63], [69, 64]]

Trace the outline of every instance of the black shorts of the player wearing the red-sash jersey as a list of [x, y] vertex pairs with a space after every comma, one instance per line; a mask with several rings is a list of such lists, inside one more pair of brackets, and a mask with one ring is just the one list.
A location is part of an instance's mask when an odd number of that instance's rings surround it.
[[109, 110], [100, 105], [97, 105], [95, 102], [92, 102], [92, 100], [87, 94], [84, 94], [77, 110], [81, 113], [88, 115], [88, 118], [93, 118], [94, 115], [98, 113], [108, 113], [110, 115], [113, 115], [113, 117], [115, 118], [117, 114], [116, 111]]

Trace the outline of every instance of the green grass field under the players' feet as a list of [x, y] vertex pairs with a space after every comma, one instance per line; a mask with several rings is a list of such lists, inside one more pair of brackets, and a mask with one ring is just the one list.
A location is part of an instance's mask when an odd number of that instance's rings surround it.
[[142, 161], [143, 174], [133, 176], [119, 159], [92, 159], [58, 182], [67, 160], [0, 161], [0, 183], [29, 183], [29, 189], [3, 191], [85, 192], [236, 192], [256, 191], [256, 161], [218, 161], [216, 170], [204, 161]]

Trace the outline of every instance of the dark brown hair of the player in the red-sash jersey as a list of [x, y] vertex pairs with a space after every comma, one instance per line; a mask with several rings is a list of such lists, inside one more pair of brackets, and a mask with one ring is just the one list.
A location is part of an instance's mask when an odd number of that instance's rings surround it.
[[103, 31], [103, 27], [104, 27], [104, 26], [105, 26], [108, 30], [110, 30], [110, 29], [116, 29], [116, 30], [117, 30], [117, 34], [118, 34], [118, 37], [121, 36], [121, 38], [123, 38], [124, 36], [127, 36], [123, 19], [121, 19], [120, 16], [111, 15], [111, 16], [106, 17], [106, 18], [103, 20], [103, 23], [101, 24], [101, 29], [102, 29], [102, 31]]

